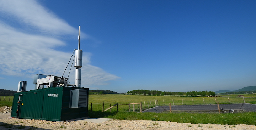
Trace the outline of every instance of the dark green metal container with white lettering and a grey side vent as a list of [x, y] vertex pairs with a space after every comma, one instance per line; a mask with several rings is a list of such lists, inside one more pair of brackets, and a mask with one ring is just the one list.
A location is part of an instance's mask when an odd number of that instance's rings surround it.
[[88, 89], [55, 87], [18, 92], [11, 117], [65, 121], [88, 116]]

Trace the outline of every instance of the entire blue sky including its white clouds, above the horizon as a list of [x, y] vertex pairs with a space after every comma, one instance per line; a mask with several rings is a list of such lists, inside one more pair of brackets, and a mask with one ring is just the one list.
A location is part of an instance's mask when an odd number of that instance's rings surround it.
[[[61, 76], [81, 26], [81, 87], [127, 92], [256, 85], [254, 0], [0, 0], [0, 89]], [[69, 78], [73, 84], [75, 67]], [[64, 75], [65, 76], [65, 75]]]

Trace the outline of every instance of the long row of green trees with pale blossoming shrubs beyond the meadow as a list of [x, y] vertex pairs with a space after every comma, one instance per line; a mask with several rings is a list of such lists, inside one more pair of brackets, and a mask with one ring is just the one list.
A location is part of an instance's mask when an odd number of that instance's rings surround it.
[[189, 91], [189, 92], [167, 92], [167, 91], [158, 91], [158, 90], [132, 90], [128, 91], [124, 95], [151, 95], [151, 96], [215, 96], [215, 92], [213, 91]]

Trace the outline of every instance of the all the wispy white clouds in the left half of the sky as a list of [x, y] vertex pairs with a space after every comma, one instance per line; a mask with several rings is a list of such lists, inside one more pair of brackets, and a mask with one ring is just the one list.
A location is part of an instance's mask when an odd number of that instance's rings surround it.
[[[62, 75], [71, 54], [54, 50], [66, 43], [52, 35], [72, 37], [77, 34], [77, 29], [34, 0], [0, 0], [0, 13], [2, 17], [13, 17], [11, 23], [9, 19], [0, 21], [0, 74], [26, 77], [38, 73]], [[26, 30], [17, 29], [13, 23], [25, 24], [19, 27]], [[34, 30], [39, 33], [34, 33]], [[84, 52], [83, 85], [105, 85], [106, 81], [119, 78], [90, 65], [90, 56]], [[74, 71], [70, 77], [73, 75]]]

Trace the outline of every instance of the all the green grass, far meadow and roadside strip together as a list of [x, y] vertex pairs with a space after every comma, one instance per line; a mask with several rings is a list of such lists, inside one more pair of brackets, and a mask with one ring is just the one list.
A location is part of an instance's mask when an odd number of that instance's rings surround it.
[[[219, 95], [220, 96], [220, 95]], [[238, 98], [236, 95], [221, 95], [229, 96], [230, 103], [244, 103], [243, 98]], [[246, 97], [253, 97], [246, 96]], [[9, 102], [10, 98], [10, 102]], [[216, 101], [220, 104], [229, 103], [228, 97], [164, 97], [164, 96], [138, 96], [138, 95], [122, 95], [122, 94], [104, 94], [104, 95], [89, 95], [89, 117], [105, 117], [114, 118], [121, 120], [157, 120], [157, 121], [172, 121], [179, 123], [214, 123], [214, 124], [248, 124], [256, 125], [256, 112], [247, 113], [225, 113], [225, 114], [207, 114], [207, 113], [137, 113], [139, 112], [139, 106], [136, 104], [136, 112], [132, 112], [133, 108], [131, 105], [130, 111], [128, 112], [128, 105], [118, 105], [113, 107], [106, 112], [102, 112], [102, 104], [104, 102], [104, 109], [107, 109], [110, 104], [111, 106], [128, 103], [140, 103], [142, 102], [143, 110], [149, 107], [154, 107], [155, 100], [158, 100], [159, 105], [192, 105], [192, 104], [216, 104]], [[12, 106], [12, 96], [1, 97], [0, 106]], [[163, 101], [164, 100], [164, 101]], [[145, 101], [145, 104], [144, 104]], [[151, 102], [151, 104], [150, 104]], [[256, 98], [245, 98], [246, 103], [256, 104]], [[91, 111], [92, 104], [92, 111]]]

